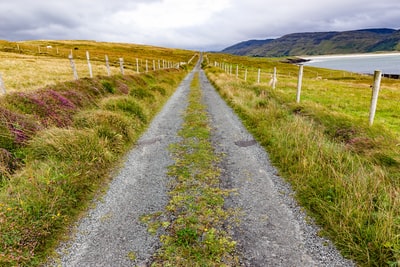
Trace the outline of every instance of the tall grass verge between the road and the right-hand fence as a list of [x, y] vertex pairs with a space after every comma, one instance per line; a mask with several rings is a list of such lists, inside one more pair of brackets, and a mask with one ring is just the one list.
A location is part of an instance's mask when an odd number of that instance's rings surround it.
[[360, 266], [400, 264], [399, 140], [313, 102], [293, 104], [271, 90], [207, 75], [269, 152], [302, 206], [342, 253]]

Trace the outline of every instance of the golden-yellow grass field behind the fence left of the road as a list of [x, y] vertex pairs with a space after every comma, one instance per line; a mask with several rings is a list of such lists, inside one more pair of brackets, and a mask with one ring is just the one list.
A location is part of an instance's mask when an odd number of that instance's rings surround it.
[[[51, 46], [51, 48], [47, 48]], [[121, 73], [119, 58], [124, 59], [124, 74], [130, 75], [166, 62], [187, 62], [193, 51], [167, 49], [134, 44], [97, 43], [94, 41], [0, 41], [0, 74], [6, 90], [34, 90], [44, 85], [69, 81], [74, 78], [69, 54], [73, 54], [79, 78], [89, 77], [86, 51], [90, 55], [93, 76], [107, 75], [105, 56], [108, 56], [111, 75]], [[160, 64], [159, 64], [160, 61]], [[154, 65], [153, 65], [154, 63]]]

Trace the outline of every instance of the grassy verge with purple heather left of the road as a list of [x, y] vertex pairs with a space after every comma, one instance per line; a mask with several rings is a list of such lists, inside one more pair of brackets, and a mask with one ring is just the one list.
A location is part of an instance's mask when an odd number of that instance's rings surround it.
[[0, 266], [43, 262], [101, 195], [188, 67], [81, 78], [0, 97]]

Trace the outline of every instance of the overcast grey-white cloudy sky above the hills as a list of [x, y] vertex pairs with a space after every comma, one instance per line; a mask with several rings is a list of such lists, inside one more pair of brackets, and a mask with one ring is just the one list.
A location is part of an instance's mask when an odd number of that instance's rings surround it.
[[0, 39], [221, 50], [288, 33], [400, 28], [399, 0], [1, 0]]

